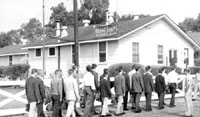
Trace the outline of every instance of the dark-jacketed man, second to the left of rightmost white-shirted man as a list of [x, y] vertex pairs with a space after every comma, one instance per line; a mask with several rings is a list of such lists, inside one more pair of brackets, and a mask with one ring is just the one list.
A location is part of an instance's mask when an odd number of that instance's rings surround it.
[[144, 93], [146, 97], [146, 111], [152, 111], [151, 97], [152, 97], [152, 91], [153, 91], [153, 75], [150, 71], [151, 71], [151, 67], [147, 66], [146, 73], [143, 76]]

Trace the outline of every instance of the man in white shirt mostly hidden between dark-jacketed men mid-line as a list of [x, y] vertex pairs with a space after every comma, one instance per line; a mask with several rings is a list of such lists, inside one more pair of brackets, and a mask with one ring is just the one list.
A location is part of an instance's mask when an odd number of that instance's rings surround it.
[[[128, 73], [128, 75], [129, 75], [129, 80], [130, 80], [130, 89], [132, 89], [132, 76], [133, 76], [133, 74], [135, 73], [136, 71], [135, 71], [135, 65], [132, 65], [132, 70]], [[132, 95], [132, 99], [133, 99], [133, 101], [132, 101], [132, 109], [134, 109], [135, 108], [135, 98], [134, 98], [134, 95], [133, 95], [133, 93], [130, 91], [130, 94]]]

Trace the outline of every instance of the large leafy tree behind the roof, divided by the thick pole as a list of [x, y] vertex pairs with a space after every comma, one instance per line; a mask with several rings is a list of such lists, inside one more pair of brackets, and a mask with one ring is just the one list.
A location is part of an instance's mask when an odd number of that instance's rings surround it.
[[[102, 24], [106, 20], [106, 10], [109, 6], [109, 0], [82, 0], [81, 7], [78, 10], [78, 25], [83, 25], [84, 19], [91, 20], [90, 24]], [[61, 26], [71, 27], [74, 24], [73, 11], [67, 11], [64, 3], [60, 3], [51, 8], [49, 24], [46, 25], [50, 30], [56, 27], [56, 21], [61, 22]]]

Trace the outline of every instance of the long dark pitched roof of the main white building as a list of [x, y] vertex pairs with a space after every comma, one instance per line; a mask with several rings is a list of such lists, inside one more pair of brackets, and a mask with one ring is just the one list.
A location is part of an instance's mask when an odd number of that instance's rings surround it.
[[[157, 16], [149, 16], [145, 18], [140, 18], [138, 20], [128, 20], [128, 21], [119, 21], [117, 22], [117, 27], [118, 27], [118, 34], [112, 35], [103, 39], [109, 39], [109, 38], [117, 38], [120, 37], [124, 34], [127, 34], [128, 32], [131, 32], [163, 15], [157, 15]], [[74, 31], [73, 28], [68, 29], [68, 36], [63, 37], [62, 40], [58, 42], [58, 38], [51, 38], [51, 37], [46, 37], [45, 38], [45, 46], [51, 46], [51, 45], [62, 45], [66, 43], [73, 43], [74, 40]], [[95, 25], [89, 25], [87, 27], [79, 27], [78, 29], [78, 39], [79, 42], [84, 42], [84, 41], [97, 41], [102, 38], [97, 38], [95, 34]], [[26, 47], [41, 47], [42, 46], [42, 41], [36, 41], [34, 43], [30, 43]]]

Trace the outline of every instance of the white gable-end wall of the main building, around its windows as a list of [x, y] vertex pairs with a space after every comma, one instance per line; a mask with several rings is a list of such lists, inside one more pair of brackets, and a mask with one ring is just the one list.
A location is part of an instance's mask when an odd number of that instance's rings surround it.
[[120, 46], [117, 50], [120, 53], [119, 61], [132, 62], [132, 42], [139, 42], [140, 64], [160, 65], [157, 63], [157, 46], [163, 45], [165, 58], [163, 65], [169, 65], [169, 50], [175, 49], [178, 51], [177, 66], [184, 67], [184, 48], [189, 49], [189, 66], [194, 65], [193, 47], [164, 20], [159, 20], [119, 40]]

